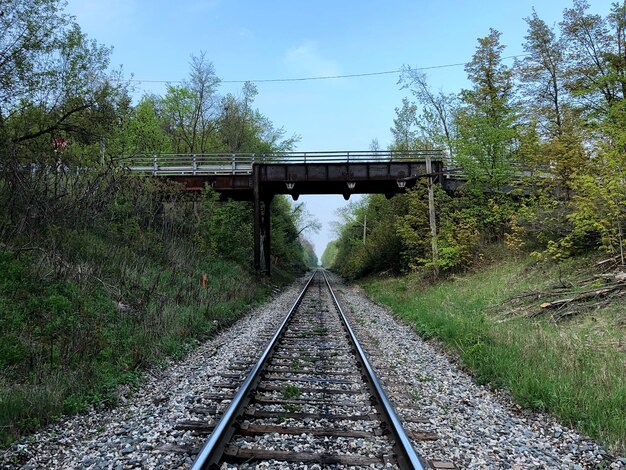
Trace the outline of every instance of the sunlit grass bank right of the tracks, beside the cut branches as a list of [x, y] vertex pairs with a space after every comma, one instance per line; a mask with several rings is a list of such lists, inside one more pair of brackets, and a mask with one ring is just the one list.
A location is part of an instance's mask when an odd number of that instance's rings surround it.
[[507, 388], [522, 406], [550, 412], [623, 454], [626, 303], [558, 323], [525, 316], [502, 321], [499, 311], [508, 297], [545, 289], [593, 265], [589, 258], [561, 266], [510, 255], [502, 259], [435, 285], [416, 274], [369, 279], [363, 286], [421, 336], [436, 338], [457, 354], [479, 383]]

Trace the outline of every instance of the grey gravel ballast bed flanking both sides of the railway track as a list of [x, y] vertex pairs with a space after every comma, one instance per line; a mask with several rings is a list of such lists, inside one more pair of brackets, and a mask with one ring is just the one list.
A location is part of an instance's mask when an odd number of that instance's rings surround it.
[[[405, 428], [436, 436], [414, 441], [426, 459], [453, 462], [459, 469], [625, 468], [626, 459], [611, 457], [597, 442], [550, 416], [521, 411], [504, 393], [476, 385], [454, 360], [369, 301], [359, 288], [335, 281], [344, 311], [386, 383]], [[198, 407], [220, 410], [228, 405], [226, 399], [200, 397], [207, 391], [216, 396], [225, 393], [219, 387], [224, 374], [232, 373], [235, 361], [254, 360], [301, 287], [298, 282], [245, 315], [184, 361], [148, 374], [141, 390], [117, 408], [68, 417], [14, 443], [3, 451], [0, 466], [188, 468], [193, 457], [185, 449], [197, 449], [206, 436], [176, 429], [176, 424], [197, 420], [193, 410]], [[271, 439], [277, 447], [315, 445], [293, 436]], [[289, 442], [281, 444], [281, 439]], [[263, 468], [290, 467], [277, 463]]]

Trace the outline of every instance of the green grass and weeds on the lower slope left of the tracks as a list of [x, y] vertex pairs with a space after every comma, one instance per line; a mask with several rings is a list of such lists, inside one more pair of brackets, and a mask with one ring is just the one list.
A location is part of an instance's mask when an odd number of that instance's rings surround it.
[[184, 357], [269, 292], [185, 241], [142, 252], [92, 232], [64, 240], [54, 259], [0, 252], [0, 445], [114, 405], [121, 384], [136, 389], [143, 368]]

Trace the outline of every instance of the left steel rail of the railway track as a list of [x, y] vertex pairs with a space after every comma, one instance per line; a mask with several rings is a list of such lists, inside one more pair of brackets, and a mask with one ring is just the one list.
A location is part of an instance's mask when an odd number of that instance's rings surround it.
[[285, 318], [278, 327], [278, 330], [265, 347], [265, 350], [261, 354], [261, 357], [257, 361], [256, 365], [252, 368], [252, 370], [246, 377], [246, 380], [244, 380], [243, 384], [241, 384], [241, 387], [239, 387], [239, 390], [235, 394], [235, 397], [233, 398], [230, 406], [226, 409], [226, 411], [222, 415], [222, 418], [219, 420], [213, 432], [211, 433], [209, 440], [204, 444], [204, 446], [202, 446], [202, 449], [200, 449], [200, 452], [196, 456], [196, 459], [191, 466], [191, 470], [211, 468], [212, 465], [218, 464], [224, 446], [228, 443], [235, 431], [234, 425], [237, 417], [241, 414], [241, 411], [247, 404], [250, 392], [253, 390], [254, 386], [260, 379], [261, 372], [265, 367], [266, 361], [274, 350], [278, 338], [282, 335], [283, 330], [285, 329], [285, 326], [289, 322], [291, 316], [299, 307], [300, 303], [302, 302], [302, 298], [304, 297], [304, 294], [306, 293], [314, 278], [315, 273], [313, 273], [311, 278], [308, 280], [308, 282], [304, 286], [304, 289], [302, 289], [302, 292], [300, 292], [300, 295], [298, 295], [298, 298], [294, 302], [293, 306], [291, 307], [287, 315], [285, 315]]

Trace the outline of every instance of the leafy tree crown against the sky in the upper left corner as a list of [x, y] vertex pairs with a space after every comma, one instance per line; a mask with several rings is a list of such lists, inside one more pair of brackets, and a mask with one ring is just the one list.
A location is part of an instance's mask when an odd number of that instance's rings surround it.
[[99, 145], [115, 127], [121, 103], [128, 102], [119, 72], [108, 70], [110, 49], [88, 39], [58, 0], [9, 0], [2, 11], [0, 138], [5, 158], [49, 163], [58, 157], [55, 142], [69, 150]]

